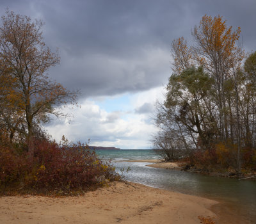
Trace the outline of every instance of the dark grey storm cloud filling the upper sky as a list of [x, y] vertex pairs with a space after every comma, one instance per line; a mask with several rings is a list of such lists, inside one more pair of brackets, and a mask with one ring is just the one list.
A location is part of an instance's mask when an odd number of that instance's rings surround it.
[[241, 26], [246, 51], [255, 51], [255, 0], [248, 1], [1, 1], [4, 8], [45, 22], [44, 38], [61, 64], [49, 74], [84, 97], [139, 92], [166, 83], [170, 44], [203, 15]]

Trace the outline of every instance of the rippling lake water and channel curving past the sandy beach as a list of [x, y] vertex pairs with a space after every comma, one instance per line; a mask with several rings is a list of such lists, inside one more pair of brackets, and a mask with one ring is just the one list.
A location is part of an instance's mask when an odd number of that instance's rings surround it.
[[[99, 157], [111, 159], [125, 179], [153, 188], [168, 189], [189, 195], [219, 200], [232, 207], [238, 216], [256, 223], [256, 181], [209, 177], [198, 173], [165, 170], [146, 166], [150, 163], [127, 162], [134, 159], [157, 159], [153, 150], [96, 150]], [[123, 162], [120, 162], [123, 161]]]

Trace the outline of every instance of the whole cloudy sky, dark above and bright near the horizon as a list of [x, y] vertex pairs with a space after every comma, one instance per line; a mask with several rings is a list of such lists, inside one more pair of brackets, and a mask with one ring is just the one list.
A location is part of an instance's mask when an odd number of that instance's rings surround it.
[[45, 44], [58, 49], [60, 65], [49, 77], [80, 90], [70, 118], [52, 118], [52, 138], [118, 148], [152, 148], [154, 103], [164, 100], [172, 75], [171, 44], [202, 16], [221, 15], [241, 27], [246, 52], [256, 51], [255, 0], [1, 0], [6, 8], [44, 22]]

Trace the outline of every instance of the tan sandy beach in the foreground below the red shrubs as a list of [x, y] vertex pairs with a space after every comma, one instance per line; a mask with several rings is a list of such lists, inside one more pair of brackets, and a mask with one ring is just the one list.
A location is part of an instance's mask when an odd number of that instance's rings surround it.
[[[200, 223], [218, 202], [198, 196], [115, 182], [83, 196], [1, 196], [0, 223]], [[216, 217], [218, 219], [218, 217]]]

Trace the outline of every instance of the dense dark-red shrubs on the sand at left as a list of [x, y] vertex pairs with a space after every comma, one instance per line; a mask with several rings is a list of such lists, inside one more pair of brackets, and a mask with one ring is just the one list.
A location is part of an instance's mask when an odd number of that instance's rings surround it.
[[[23, 147], [26, 148], [26, 147]], [[109, 163], [80, 143], [71, 147], [34, 140], [33, 150], [0, 145], [1, 191], [72, 193], [102, 186], [120, 176]]]

